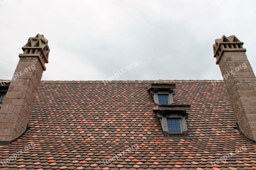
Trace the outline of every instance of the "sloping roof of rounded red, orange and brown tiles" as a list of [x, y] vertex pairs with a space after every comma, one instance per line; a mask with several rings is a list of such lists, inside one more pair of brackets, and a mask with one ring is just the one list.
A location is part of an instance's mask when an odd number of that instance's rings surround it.
[[[151, 109], [151, 83], [173, 82], [174, 103], [191, 105], [189, 139], [164, 139]], [[20, 139], [0, 146], [0, 160], [35, 146], [17, 160], [0, 163], [2, 170], [256, 169], [256, 145], [236, 131], [222, 81], [42, 81], [28, 127]], [[119, 159], [102, 162], [123, 151]], [[228, 155], [224, 163], [211, 164]]]

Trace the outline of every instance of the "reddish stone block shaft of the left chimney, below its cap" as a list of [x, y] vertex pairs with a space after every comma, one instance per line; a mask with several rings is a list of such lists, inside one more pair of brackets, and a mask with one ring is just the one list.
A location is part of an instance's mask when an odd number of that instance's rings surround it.
[[[25, 72], [24, 69], [31, 68], [31, 65], [35, 65], [38, 70], [28, 69]], [[20, 71], [22, 75], [20, 75]], [[0, 136], [6, 136], [5, 140], [12, 140], [26, 129], [42, 73], [43, 69], [37, 57], [20, 57], [17, 69], [14, 72], [15, 80], [10, 83], [10, 88], [0, 109], [0, 114], [14, 114], [17, 117], [16, 122], [5, 121], [7, 118], [5, 118], [4, 124], [0, 122], [0, 131], [4, 131]]]

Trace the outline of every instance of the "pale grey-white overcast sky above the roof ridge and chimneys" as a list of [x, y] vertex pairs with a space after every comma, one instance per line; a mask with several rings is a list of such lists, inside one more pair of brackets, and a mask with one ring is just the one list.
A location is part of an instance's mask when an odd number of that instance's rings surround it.
[[255, 71], [255, 30], [255, 0], [0, 0], [0, 79], [37, 33], [51, 49], [42, 80], [217, 79], [215, 39], [243, 41]]

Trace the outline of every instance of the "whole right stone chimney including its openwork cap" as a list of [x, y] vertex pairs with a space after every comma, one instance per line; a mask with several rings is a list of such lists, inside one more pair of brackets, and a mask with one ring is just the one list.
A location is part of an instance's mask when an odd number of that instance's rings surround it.
[[256, 140], [256, 78], [245, 55], [243, 42], [232, 35], [216, 39], [213, 45], [216, 64], [227, 87], [238, 128]]

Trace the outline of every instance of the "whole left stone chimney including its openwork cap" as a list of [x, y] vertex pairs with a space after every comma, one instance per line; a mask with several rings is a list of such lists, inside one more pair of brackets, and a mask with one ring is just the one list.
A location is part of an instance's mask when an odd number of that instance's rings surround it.
[[0, 109], [0, 144], [8, 145], [27, 129], [36, 92], [46, 70], [50, 49], [44, 35], [30, 37]]

